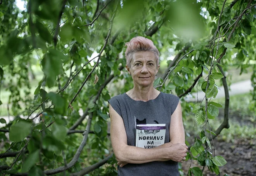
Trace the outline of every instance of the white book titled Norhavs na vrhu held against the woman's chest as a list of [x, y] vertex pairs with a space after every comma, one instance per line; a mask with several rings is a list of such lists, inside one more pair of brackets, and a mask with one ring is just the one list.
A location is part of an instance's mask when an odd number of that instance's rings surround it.
[[164, 144], [165, 124], [137, 124], [136, 147], [151, 149]]

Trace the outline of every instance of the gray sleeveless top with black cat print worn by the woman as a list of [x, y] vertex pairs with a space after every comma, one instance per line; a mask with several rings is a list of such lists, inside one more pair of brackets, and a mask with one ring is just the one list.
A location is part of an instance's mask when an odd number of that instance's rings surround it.
[[[179, 98], [173, 94], [160, 92], [156, 99], [136, 101], [126, 93], [108, 100], [113, 109], [123, 118], [127, 144], [135, 146], [135, 123], [166, 124], [164, 143], [170, 142], [171, 114], [175, 111]], [[118, 166], [118, 176], [179, 176], [178, 163], [174, 161], [154, 161], [143, 164]]]

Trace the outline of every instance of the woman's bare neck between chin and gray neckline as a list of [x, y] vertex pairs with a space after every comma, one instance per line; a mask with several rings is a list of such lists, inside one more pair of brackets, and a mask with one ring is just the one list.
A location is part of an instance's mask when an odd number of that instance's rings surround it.
[[147, 87], [134, 86], [133, 89], [126, 92], [131, 99], [140, 100], [140, 101], [149, 101], [155, 99], [159, 95], [159, 91], [154, 89], [153, 85]]

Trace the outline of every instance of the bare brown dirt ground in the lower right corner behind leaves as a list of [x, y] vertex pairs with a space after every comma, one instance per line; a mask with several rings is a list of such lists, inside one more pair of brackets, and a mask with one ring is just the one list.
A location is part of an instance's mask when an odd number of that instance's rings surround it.
[[[238, 139], [234, 140], [234, 143], [214, 140], [214, 145], [216, 147], [215, 156], [221, 155], [227, 161], [225, 166], [220, 167], [222, 176], [224, 174], [230, 176], [256, 176], [256, 139]], [[184, 175], [187, 175], [189, 166], [190, 160], [182, 163]], [[202, 169], [202, 166], [197, 164], [197, 161], [192, 161], [191, 167], [194, 166]], [[216, 176], [216, 174], [211, 173], [207, 167], [203, 175]]]

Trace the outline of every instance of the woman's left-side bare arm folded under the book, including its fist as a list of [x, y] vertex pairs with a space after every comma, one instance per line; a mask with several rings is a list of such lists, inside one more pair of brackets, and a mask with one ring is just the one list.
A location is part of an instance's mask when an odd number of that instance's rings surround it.
[[118, 162], [141, 164], [152, 161], [182, 161], [187, 152], [185, 144], [175, 144], [170, 147], [143, 149], [127, 145], [125, 126], [121, 116], [109, 105], [111, 119], [111, 143]]

